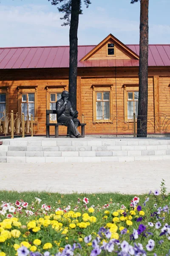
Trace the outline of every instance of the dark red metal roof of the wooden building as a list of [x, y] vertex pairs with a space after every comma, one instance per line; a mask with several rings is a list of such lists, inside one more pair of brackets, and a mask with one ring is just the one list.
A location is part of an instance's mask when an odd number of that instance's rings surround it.
[[[81, 60], [96, 45], [78, 47]], [[139, 55], [139, 45], [127, 45]], [[87, 60], [78, 61], [78, 67], [132, 67], [139, 61]], [[170, 45], [149, 45], [148, 66], [170, 66]], [[69, 46], [0, 48], [0, 69], [69, 67]]]

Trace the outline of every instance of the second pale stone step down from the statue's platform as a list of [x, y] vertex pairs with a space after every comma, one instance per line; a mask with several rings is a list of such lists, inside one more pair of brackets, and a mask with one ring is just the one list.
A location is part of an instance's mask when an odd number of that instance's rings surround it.
[[150, 151], [170, 150], [170, 145], [137, 145], [137, 146], [23, 146], [1, 145], [0, 151]]

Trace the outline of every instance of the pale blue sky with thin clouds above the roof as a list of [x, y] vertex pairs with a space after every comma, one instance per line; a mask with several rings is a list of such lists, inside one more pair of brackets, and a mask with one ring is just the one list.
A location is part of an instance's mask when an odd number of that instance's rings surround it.
[[[149, 2], [149, 43], [170, 44], [170, 0]], [[91, 0], [82, 7], [79, 45], [99, 44], [110, 33], [124, 44], [139, 44], [140, 3]], [[60, 17], [48, 0], [0, 0], [0, 47], [69, 45], [69, 27]]]

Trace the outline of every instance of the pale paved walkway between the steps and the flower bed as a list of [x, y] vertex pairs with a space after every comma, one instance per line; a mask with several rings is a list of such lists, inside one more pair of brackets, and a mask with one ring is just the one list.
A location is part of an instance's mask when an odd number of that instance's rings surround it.
[[17, 191], [170, 192], [170, 160], [123, 163], [0, 163], [0, 189]]

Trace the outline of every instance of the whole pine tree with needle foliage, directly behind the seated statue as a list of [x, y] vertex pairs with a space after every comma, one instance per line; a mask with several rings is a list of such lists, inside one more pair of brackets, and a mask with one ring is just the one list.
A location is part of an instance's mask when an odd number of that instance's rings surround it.
[[[70, 101], [73, 109], [77, 109], [77, 31], [79, 25], [79, 15], [82, 14], [81, 0], [48, 0], [52, 5], [60, 5], [57, 7], [59, 12], [64, 13], [61, 18], [65, 20], [62, 26], [70, 26], [69, 40], [70, 40], [70, 62], [69, 62], [69, 86]], [[88, 8], [91, 3], [90, 0], [84, 0]]]

